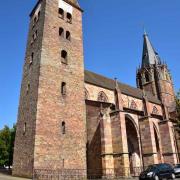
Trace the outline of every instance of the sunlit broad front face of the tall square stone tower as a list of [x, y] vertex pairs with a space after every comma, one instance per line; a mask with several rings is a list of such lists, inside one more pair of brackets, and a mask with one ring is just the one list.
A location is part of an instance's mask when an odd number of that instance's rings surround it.
[[[71, 33], [70, 42], [59, 37], [60, 27]], [[61, 50], [67, 51], [68, 64], [61, 62]], [[40, 66], [34, 168], [86, 169], [81, 11], [73, 8], [70, 24], [59, 17], [58, 0], [46, 0]], [[65, 96], [62, 82], [66, 82]]]

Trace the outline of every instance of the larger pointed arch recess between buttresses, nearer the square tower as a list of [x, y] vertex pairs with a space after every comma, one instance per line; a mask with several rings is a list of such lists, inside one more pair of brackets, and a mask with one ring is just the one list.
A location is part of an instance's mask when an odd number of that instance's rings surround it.
[[126, 133], [129, 153], [130, 173], [135, 174], [136, 169], [141, 167], [138, 130], [133, 119], [126, 115]]

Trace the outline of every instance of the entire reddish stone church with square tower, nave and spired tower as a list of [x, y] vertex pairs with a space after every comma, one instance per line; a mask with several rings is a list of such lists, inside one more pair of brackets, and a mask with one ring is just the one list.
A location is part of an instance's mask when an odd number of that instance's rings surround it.
[[77, 0], [38, 0], [30, 14], [13, 175], [79, 170], [129, 176], [179, 162], [175, 93], [146, 33], [137, 88], [84, 69]]

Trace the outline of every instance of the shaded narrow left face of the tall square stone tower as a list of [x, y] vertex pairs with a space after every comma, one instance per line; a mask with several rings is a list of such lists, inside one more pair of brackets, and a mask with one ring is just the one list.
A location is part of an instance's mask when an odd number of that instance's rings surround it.
[[[37, 114], [39, 68], [41, 58], [41, 44], [43, 36], [45, 2], [41, 6], [41, 16], [33, 27], [33, 17], [30, 19], [29, 35], [26, 47], [21, 94], [18, 110], [18, 121], [14, 148], [13, 175], [31, 177], [34, 163], [35, 121]], [[35, 31], [37, 39], [32, 42]], [[34, 60], [30, 65], [31, 54]], [[29, 84], [29, 85], [28, 85]], [[29, 87], [28, 87], [29, 86]], [[26, 132], [24, 133], [26, 123]]]

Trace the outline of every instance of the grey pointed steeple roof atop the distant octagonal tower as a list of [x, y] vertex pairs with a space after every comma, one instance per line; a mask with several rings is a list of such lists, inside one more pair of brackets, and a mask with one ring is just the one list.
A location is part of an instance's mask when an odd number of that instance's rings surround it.
[[160, 64], [161, 60], [158, 53], [153, 48], [146, 31], [144, 31], [144, 45], [142, 54], [142, 67]]

